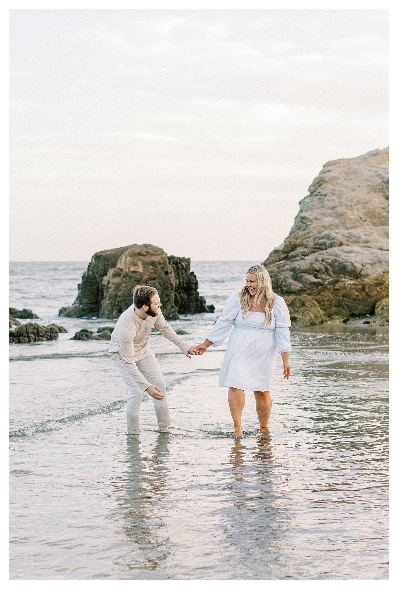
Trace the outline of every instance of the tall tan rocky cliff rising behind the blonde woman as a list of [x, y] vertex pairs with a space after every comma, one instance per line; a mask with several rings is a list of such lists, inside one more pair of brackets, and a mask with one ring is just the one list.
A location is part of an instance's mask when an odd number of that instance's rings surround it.
[[389, 296], [389, 148], [327, 162], [309, 193], [263, 262], [273, 289], [296, 325], [374, 313]]

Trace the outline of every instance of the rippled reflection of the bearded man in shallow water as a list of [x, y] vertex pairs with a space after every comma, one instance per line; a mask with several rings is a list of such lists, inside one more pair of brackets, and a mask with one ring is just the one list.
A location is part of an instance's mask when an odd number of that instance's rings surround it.
[[123, 530], [130, 543], [127, 568], [157, 570], [170, 555], [167, 531], [157, 504], [171, 491], [167, 487], [167, 456], [170, 436], [158, 434], [154, 445], [138, 436], [127, 436], [126, 464], [123, 478], [119, 477], [119, 502], [124, 518]]

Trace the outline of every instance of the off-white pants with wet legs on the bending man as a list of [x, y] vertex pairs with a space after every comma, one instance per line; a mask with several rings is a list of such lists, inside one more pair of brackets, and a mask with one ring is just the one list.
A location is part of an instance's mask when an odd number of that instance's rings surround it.
[[[131, 372], [127, 366], [124, 365], [123, 360], [113, 360], [118, 372], [128, 389], [127, 397], [127, 433], [128, 434], [139, 434], [140, 433], [140, 405], [142, 395], [144, 392], [141, 391], [140, 387], [131, 376]], [[145, 376], [151, 385], [158, 386], [163, 395], [163, 400], [159, 401], [154, 399], [155, 413], [158, 421], [158, 426], [164, 428], [170, 425], [170, 413], [168, 412], [168, 403], [166, 395], [166, 383], [164, 382], [163, 375], [158, 365], [156, 356], [151, 349], [144, 352], [141, 356], [135, 358], [135, 364], [141, 374]]]

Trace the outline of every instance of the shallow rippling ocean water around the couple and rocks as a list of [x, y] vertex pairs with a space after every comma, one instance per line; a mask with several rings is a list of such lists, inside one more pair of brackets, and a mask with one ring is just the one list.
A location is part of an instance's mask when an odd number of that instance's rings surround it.
[[[203, 341], [251, 263], [192, 264], [216, 311], [171, 322], [184, 339]], [[159, 434], [144, 397], [127, 436], [108, 343], [69, 339], [115, 322], [58, 317], [86, 267], [10, 264], [10, 306], [68, 330], [9, 346], [10, 578], [387, 579], [388, 329], [292, 331], [269, 432], [248, 392], [243, 439], [218, 387], [226, 342], [189, 360], [152, 336], [173, 423]]]

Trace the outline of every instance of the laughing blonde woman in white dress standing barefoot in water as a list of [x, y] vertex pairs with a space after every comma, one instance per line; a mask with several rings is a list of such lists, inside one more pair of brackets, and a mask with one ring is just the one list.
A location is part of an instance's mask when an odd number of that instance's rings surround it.
[[257, 264], [247, 270], [246, 286], [240, 293], [231, 294], [223, 315], [207, 333], [205, 341], [197, 346], [195, 353], [201, 356], [210, 346], [220, 346], [231, 327], [235, 327], [220, 369], [220, 386], [229, 386], [234, 435], [243, 436], [245, 390], [254, 392], [260, 431], [267, 431], [278, 352], [283, 360], [283, 376], [290, 376], [290, 325], [286, 303], [273, 292], [267, 270]]

